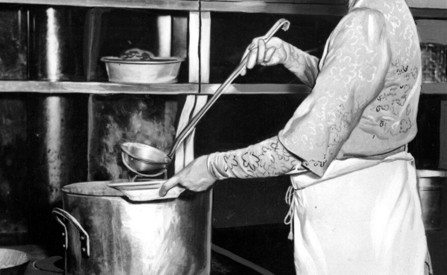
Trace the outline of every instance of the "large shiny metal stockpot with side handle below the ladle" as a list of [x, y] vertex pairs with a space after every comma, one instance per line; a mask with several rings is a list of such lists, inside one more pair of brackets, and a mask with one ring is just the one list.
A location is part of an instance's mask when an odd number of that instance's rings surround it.
[[62, 188], [67, 273], [209, 274], [210, 191], [135, 203], [107, 183]]

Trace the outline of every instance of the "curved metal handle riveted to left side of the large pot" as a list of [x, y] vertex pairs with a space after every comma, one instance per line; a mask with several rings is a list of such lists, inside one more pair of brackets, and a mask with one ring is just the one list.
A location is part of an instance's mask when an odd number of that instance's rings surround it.
[[63, 226], [64, 232], [62, 233], [62, 235], [65, 236], [65, 244], [63, 244], [65, 250], [67, 250], [68, 248], [67, 226], [60, 219], [60, 217], [69, 220], [78, 229], [79, 239], [81, 241], [81, 255], [84, 258], [90, 257], [90, 237], [88, 236], [87, 231], [85, 231], [85, 229], [82, 228], [78, 220], [76, 220], [76, 218], [73, 217], [70, 213], [60, 208], [54, 208], [53, 211], [51, 211], [51, 214], [54, 216], [57, 222]]

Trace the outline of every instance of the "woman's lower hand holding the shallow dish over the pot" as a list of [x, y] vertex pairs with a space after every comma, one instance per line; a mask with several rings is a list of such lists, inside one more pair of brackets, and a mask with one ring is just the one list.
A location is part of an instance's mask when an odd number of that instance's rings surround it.
[[201, 156], [189, 163], [171, 179], [166, 181], [158, 191], [158, 194], [162, 197], [165, 196], [177, 184], [196, 192], [208, 189], [216, 179], [208, 171], [207, 157]]

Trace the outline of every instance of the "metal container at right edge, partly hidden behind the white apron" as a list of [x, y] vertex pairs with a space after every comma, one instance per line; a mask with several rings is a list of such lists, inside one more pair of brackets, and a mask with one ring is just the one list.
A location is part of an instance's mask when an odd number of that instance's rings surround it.
[[436, 170], [418, 170], [417, 172], [425, 230], [441, 230], [447, 219], [446, 172]]

